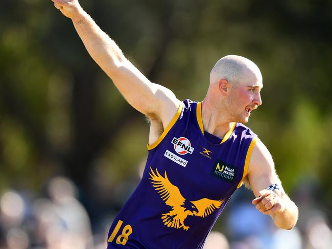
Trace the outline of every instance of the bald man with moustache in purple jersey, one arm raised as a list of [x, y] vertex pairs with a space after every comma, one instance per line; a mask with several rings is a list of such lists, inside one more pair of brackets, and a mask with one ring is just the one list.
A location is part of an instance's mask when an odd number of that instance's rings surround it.
[[269, 151], [243, 124], [262, 105], [262, 74], [252, 61], [221, 58], [204, 101], [179, 101], [137, 70], [77, 0], [52, 1], [73, 20], [87, 51], [128, 103], [151, 121], [143, 178], [115, 217], [108, 248], [202, 248], [243, 183], [256, 196], [252, 204], [278, 228], [295, 226], [298, 209]]

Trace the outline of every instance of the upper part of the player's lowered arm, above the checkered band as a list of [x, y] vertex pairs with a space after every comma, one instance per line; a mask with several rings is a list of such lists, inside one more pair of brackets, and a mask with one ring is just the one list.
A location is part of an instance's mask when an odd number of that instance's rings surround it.
[[272, 156], [261, 141], [257, 141], [252, 151], [247, 180], [255, 196], [259, 195], [260, 190], [273, 184], [277, 184], [280, 190], [283, 191], [275, 171]]

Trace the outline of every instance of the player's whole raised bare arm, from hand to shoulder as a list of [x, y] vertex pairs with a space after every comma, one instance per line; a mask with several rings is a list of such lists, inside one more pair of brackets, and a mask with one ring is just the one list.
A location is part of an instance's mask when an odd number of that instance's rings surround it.
[[179, 107], [174, 93], [150, 82], [123, 55], [116, 43], [82, 9], [78, 0], [52, 0], [63, 15], [72, 19], [75, 29], [94, 61], [113, 80], [130, 105], [148, 117], [157, 117], [163, 126]]

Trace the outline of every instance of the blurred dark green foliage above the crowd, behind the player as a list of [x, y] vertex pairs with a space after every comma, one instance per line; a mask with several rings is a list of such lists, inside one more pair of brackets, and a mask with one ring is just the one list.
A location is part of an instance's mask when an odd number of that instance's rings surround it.
[[[151, 81], [180, 99], [204, 98], [219, 58], [254, 61], [265, 86], [248, 126], [269, 148], [284, 188], [314, 179], [332, 210], [332, 1], [80, 3]], [[1, 1], [0, 58], [0, 188], [37, 191], [65, 174], [88, 194], [99, 185], [112, 191], [137, 171], [147, 155], [146, 119], [51, 1]]]

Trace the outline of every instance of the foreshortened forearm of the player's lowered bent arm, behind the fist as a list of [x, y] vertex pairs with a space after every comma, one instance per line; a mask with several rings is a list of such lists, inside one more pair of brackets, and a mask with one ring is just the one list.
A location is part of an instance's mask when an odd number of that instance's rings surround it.
[[286, 208], [282, 212], [272, 214], [271, 217], [278, 228], [291, 230], [297, 222], [298, 208], [288, 198]]

